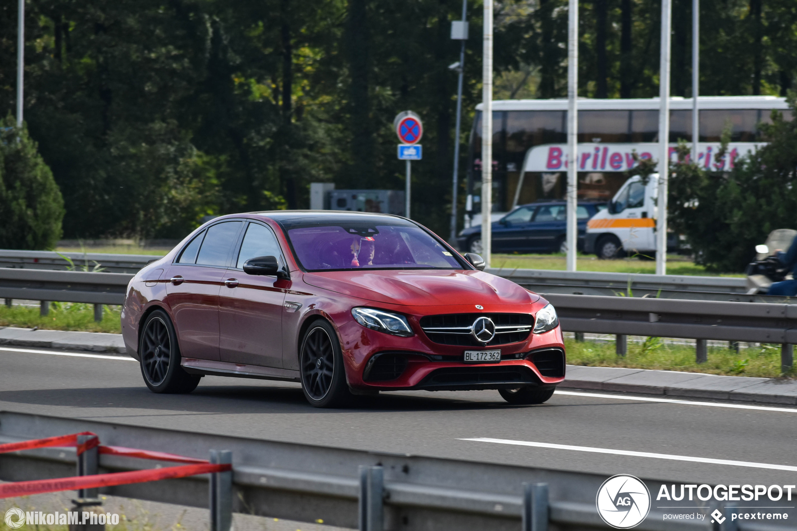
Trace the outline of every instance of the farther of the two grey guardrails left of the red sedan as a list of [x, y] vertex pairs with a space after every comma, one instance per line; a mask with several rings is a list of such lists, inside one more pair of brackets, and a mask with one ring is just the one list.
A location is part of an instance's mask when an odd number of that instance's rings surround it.
[[[63, 255], [63, 256], [61, 256]], [[112, 255], [101, 252], [54, 252], [54, 251], [14, 251], [0, 249], [0, 268], [10, 267], [15, 269], [51, 269], [65, 271], [69, 257], [76, 267], [88, 267], [91, 271], [95, 264], [100, 264], [104, 272], [108, 273], [136, 273], [153, 260], [161, 256], [151, 255]]]

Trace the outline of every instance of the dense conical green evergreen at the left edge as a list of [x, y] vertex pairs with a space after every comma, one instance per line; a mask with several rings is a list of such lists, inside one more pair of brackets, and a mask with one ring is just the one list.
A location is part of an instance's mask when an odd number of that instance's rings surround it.
[[0, 248], [51, 249], [61, 237], [64, 200], [26, 127], [0, 121]]

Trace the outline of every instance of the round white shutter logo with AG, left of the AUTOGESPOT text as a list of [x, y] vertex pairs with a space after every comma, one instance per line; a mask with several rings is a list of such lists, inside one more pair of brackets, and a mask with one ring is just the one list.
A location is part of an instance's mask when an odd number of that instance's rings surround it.
[[600, 486], [595, 506], [608, 525], [630, 529], [645, 520], [650, 512], [650, 490], [639, 478], [618, 474]]

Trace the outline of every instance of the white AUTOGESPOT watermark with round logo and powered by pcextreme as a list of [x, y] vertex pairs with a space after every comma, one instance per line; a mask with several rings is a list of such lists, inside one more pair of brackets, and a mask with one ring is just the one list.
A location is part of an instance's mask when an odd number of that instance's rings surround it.
[[[655, 502], [696, 502], [694, 505], [657, 505], [656, 518], [665, 521], [705, 521], [722, 524], [730, 517], [731, 521], [769, 521], [770, 523], [789, 520], [792, 496], [797, 498], [794, 485], [662, 485]], [[705, 503], [709, 502], [709, 503]], [[714, 508], [714, 502], [724, 502], [727, 513]], [[732, 502], [754, 502], [744, 506]], [[766, 503], [757, 506], [755, 502]], [[770, 504], [770, 502], [778, 502]], [[641, 479], [629, 474], [618, 474], [608, 478], [598, 489], [595, 506], [600, 517], [615, 529], [630, 529], [641, 524], [650, 516], [653, 505], [650, 490]], [[702, 505], [702, 506], [701, 506]]]

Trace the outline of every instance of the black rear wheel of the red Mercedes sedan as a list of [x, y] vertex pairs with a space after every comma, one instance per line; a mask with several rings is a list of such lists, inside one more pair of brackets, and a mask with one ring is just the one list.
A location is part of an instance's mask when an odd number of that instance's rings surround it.
[[144, 383], [151, 392], [185, 393], [199, 385], [199, 376], [180, 366], [180, 347], [175, 326], [163, 310], [147, 316], [139, 339], [139, 365]]

